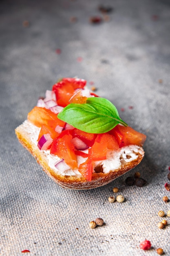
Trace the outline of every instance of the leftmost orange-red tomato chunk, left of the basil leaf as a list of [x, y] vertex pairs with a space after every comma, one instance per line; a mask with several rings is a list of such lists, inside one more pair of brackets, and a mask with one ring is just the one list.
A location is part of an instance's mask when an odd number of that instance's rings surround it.
[[41, 107], [34, 107], [29, 113], [27, 119], [35, 126], [41, 127], [43, 124], [55, 128], [57, 125], [64, 127], [65, 122], [57, 118], [57, 114], [51, 110]]

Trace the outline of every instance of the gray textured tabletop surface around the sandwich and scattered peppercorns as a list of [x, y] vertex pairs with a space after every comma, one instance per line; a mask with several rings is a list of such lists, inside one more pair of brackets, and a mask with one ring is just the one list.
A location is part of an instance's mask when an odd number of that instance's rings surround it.
[[[114, 8], [110, 20], [91, 24], [101, 3], [0, 3], [0, 255], [29, 249], [37, 256], [154, 256], [157, 247], [170, 255], [170, 225], [157, 228], [158, 211], [170, 209], [161, 199], [170, 196], [170, 1], [106, 0]], [[102, 188], [68, 191], [18, 143], [15, 128], [62, 76], [84, 78], [89, 87], [93, 81], [121, 118], [147, 135], [146, 157], [135, 170]], [[124, 184], [135, 171], [147, 186]], [[108, 202], [114, 186], [124, 203]], [[97, 217], [104, 227], [90, 229]], [[139, 249], [145, 239], [152, 243], [147, 252]]]

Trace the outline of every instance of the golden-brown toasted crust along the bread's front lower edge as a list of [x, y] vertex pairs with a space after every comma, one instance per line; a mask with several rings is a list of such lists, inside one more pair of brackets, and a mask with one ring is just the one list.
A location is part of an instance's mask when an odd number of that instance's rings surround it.
[[137, 166], [144, 157], [144, 150], [142, 147], [140, 147], [136, 153], [137, 158], [135, 160], [122, 164], [120, 168], [110, 171], [109, 173], [93, 173], [92, 181], [89, 182], [86, 181], [82, 176], [63, 176], [55, 173], [53, 169], [49, 167], [49, 162], [47, 157], [44, 155], [44, 152], [39, 150], [39, 148], [31, 141], [31, 132], [29, 133], [25, 131], [23, 125], [20, 125], [15, 129], [15, 133], [22, 146], [29, 150], [29, 152], [37, 160], [38, 164], [40, 164], [44, 172], [65, 189], [85, 190], [104, 186]]

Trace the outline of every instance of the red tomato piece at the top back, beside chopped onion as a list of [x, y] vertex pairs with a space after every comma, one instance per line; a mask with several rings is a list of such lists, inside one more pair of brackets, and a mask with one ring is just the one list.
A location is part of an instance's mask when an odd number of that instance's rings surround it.
[[69, 104], [69, 99], [75, 92], [73, 85], [66, 81], [55, 83], [52, 90], [55, 92], [57, 104], [62, 107], [66, 107]]

